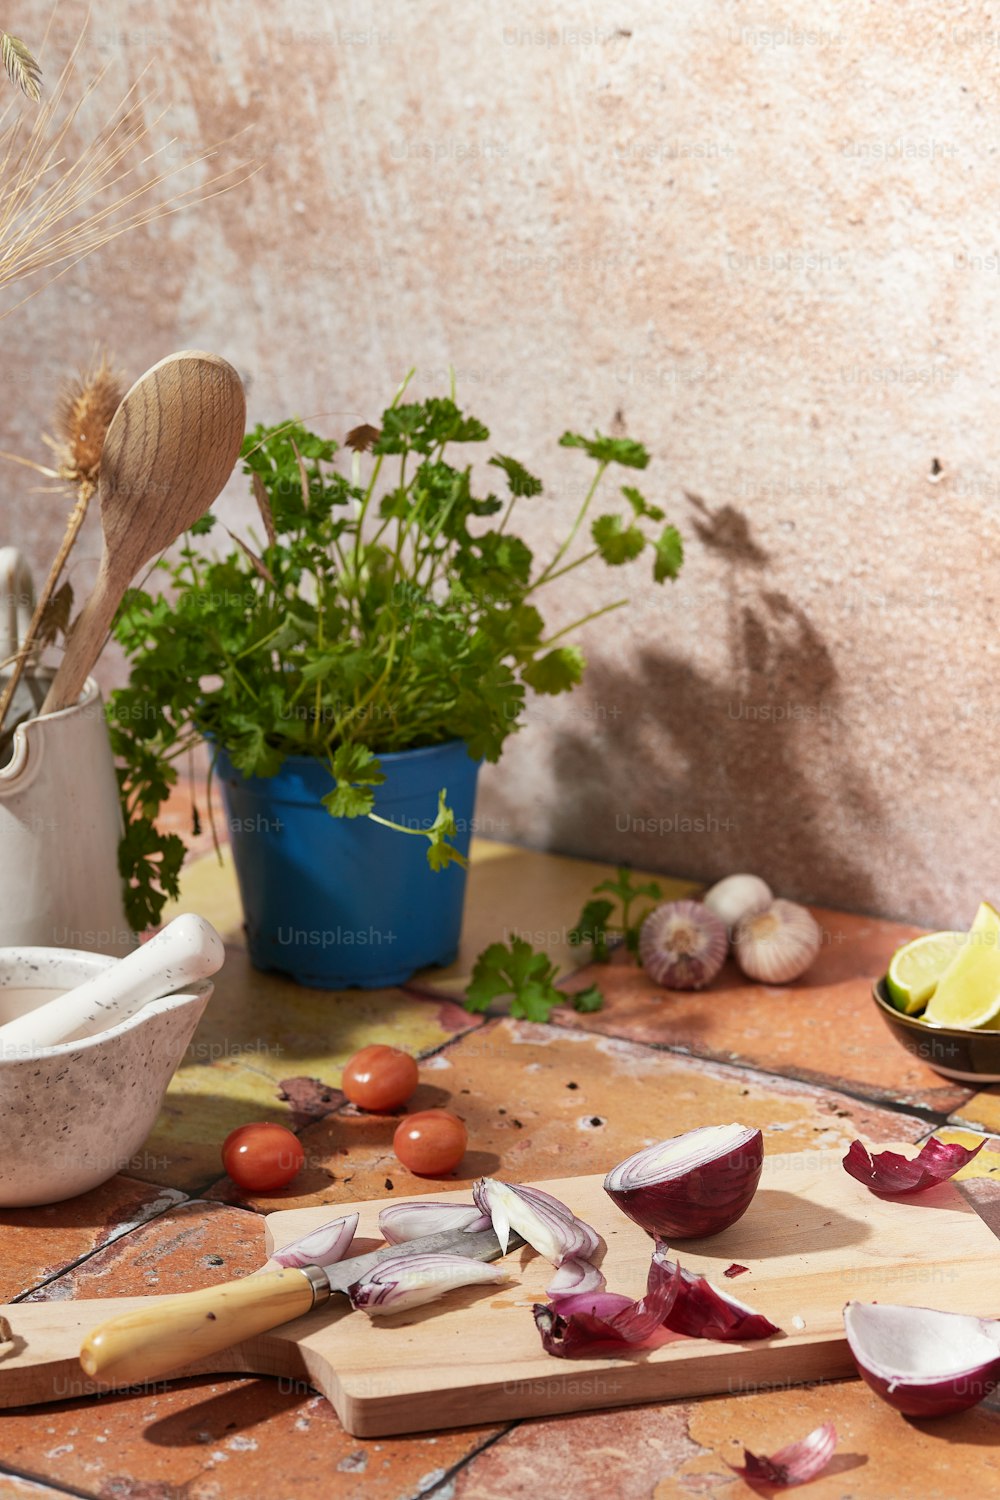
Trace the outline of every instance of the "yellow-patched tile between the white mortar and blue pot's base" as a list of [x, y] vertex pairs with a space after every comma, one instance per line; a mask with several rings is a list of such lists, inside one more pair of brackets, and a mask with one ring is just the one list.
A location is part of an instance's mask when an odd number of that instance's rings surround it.
[[[381, 1041], [420, 1054], [480, 1024], [480, 1017], [441, 998], [307, 990], [258, 974], [241, 948], [229, 946], [136, 1176], [199, 1191], [219, 1176], [219, 1148], [231, 1130], [258, 1119], [301, 1124], [297, 1106], [307, 1080], [316, 1080], [319, 1094], [336, 1089], [343, 1064], [360, 1047]], [[298, 1098], [295, 1090], [282, 1098], [289, 1078], [306, 1080]]]

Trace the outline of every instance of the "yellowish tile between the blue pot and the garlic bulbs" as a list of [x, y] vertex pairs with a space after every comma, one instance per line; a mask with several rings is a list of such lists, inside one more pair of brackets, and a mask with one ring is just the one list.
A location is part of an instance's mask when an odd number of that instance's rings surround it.
[[[544, 948], [561, 972], [579, 968], [580, 950], [570, 945], [567, 933], [594, 886], [613, 874], [610, 864], [474, 838], [459, 957], [447, 969], [424, 969], [409, 987], [462, 994], [483, 948], [498, 939], [510, 942], [511, 933]], [[663, 874], [643, 879], [658, 880], [664, 900], [700, 890], [697, 882]]]

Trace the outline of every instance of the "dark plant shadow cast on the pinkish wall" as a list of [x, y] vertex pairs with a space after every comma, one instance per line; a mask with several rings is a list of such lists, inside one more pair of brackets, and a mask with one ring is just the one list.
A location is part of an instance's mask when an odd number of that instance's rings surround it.
[[[787, 897], [873, 910], [876, 794], [849, 758], [831, 651], [807, 614], [763, 582], [768, 552], [733, 507], [688, 495], [693, 528], [729, 567], [729, 681], [648, 646], [628, 681], [595, 660], [586, 686], [622, 712], [607, 736], [561, 728], [550, 848], [691, 874], [753, 870]], [[580, 810], [586, 816], [580, 816]], [[580, 840], [586, 844], [580, 849]]]

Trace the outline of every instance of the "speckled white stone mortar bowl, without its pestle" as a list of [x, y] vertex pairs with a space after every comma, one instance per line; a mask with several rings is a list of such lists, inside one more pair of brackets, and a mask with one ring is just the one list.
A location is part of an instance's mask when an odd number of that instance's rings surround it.
[[[0, 948], [0, 1022], [111, 963], [67, 948]], [[94, 1036], [0, 1058], [0, 1208], [60, 1203], [127, 1170], [211, 992], [204, 980]]]

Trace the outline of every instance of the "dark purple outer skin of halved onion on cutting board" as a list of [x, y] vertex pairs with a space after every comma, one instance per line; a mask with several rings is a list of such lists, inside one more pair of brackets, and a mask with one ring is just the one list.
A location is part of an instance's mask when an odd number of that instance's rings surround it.
[[637, 1188], [604, 1191], [652, 1239], [706, 1239], [721, 1234], [750, 1208], [765, 1160], [760, 1131], [724, 1156], [706, 1161], [682, 1178]]

